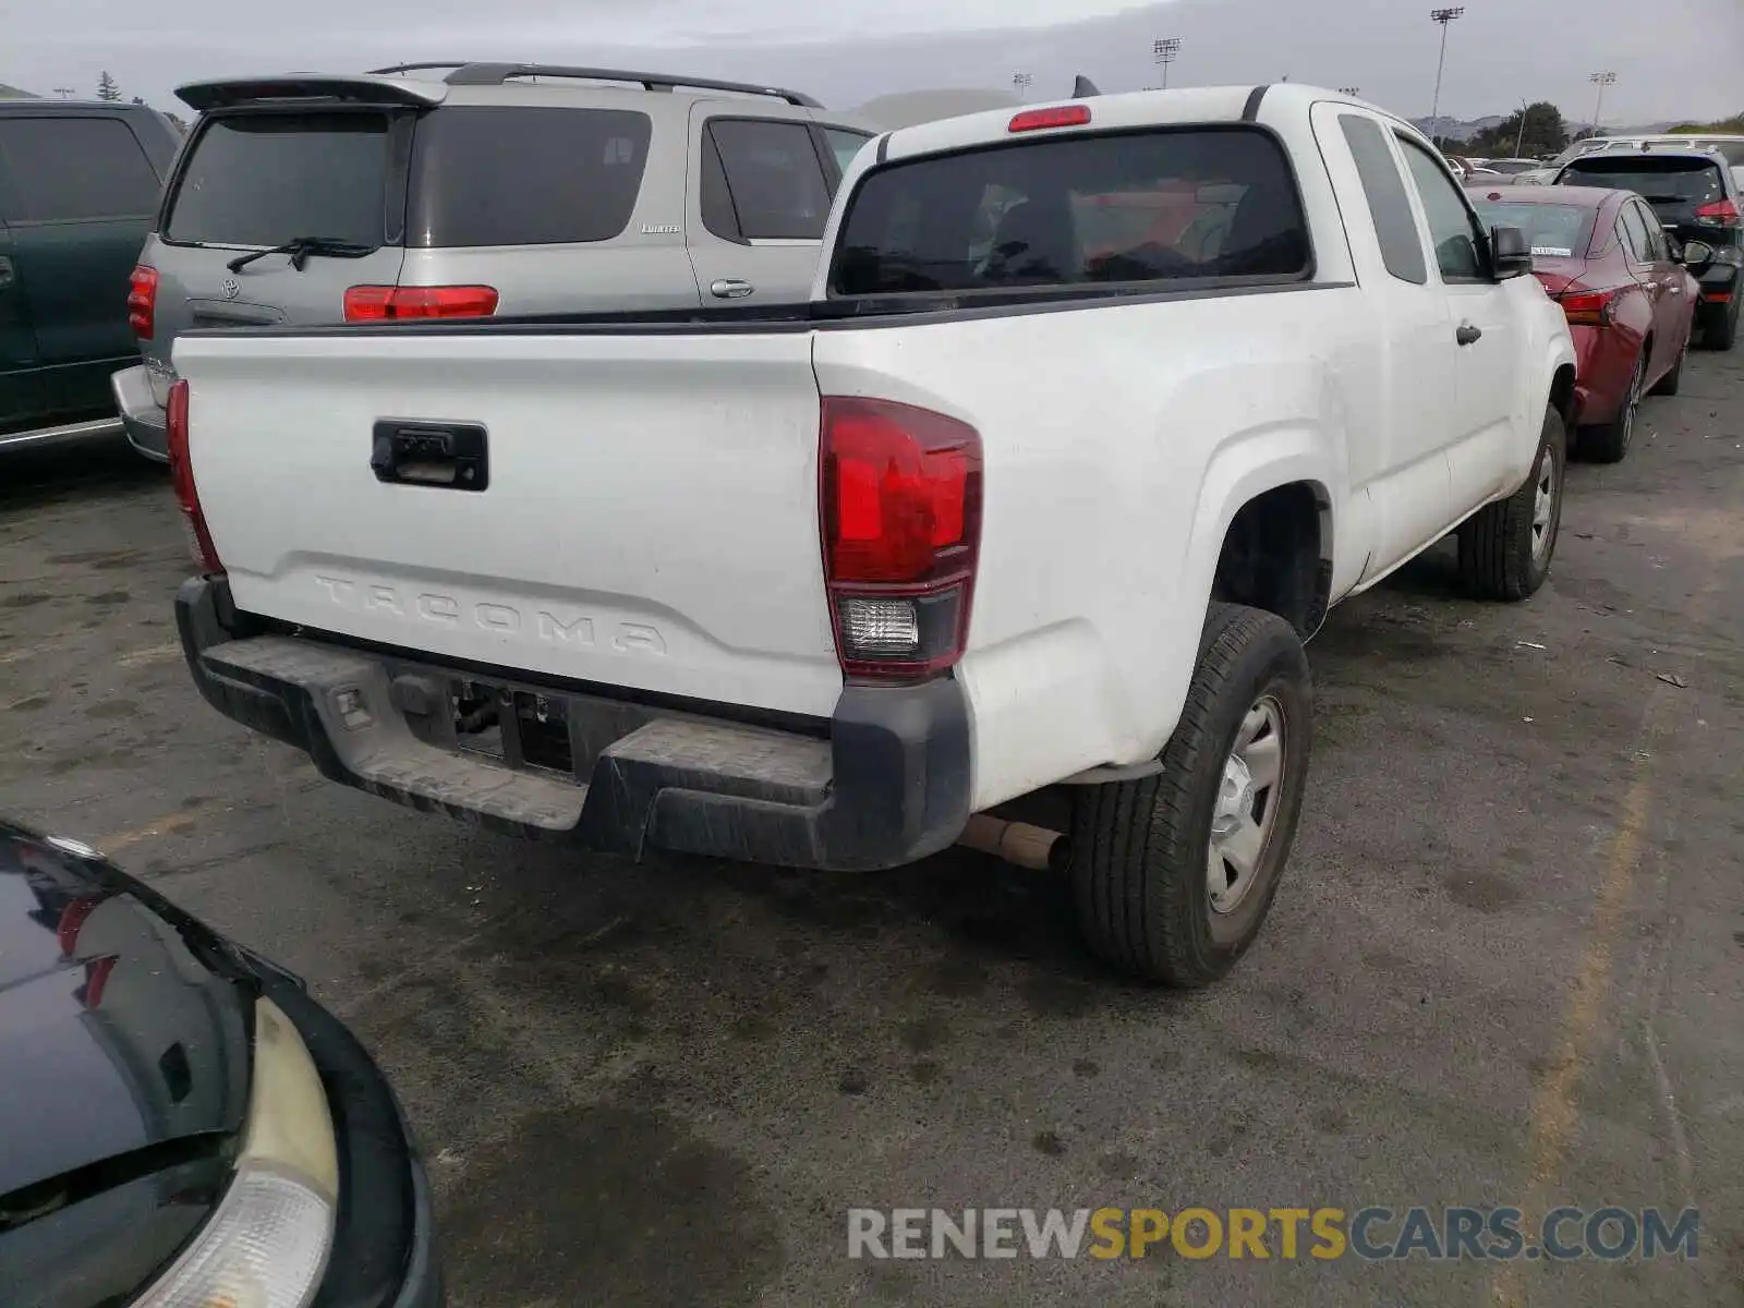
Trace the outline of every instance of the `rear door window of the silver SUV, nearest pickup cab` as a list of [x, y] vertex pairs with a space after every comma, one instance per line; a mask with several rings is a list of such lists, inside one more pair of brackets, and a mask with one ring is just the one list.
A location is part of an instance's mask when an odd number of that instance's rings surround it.
[[[720, 153], [727, 195], [746, 241], [823, 237], [823, 221], [830, 215], [830, 183], [804, 124], [715, 119], [708, 124], [706, 138]], [[703, 164], [706, 187], [706, 152]]]

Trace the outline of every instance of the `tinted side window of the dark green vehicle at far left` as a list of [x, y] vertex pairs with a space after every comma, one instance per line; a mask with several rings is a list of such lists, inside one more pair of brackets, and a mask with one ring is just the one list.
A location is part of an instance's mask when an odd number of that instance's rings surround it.
[[162, 180], [120, 119], [0, 119], [12, 169], [12, 221], [146, 218]]

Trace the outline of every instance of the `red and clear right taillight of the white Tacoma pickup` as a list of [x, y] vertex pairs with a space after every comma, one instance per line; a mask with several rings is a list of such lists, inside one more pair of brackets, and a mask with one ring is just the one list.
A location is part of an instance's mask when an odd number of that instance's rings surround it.
[[827, 396], [818, 453], [842, 671], [914, 682], [954, 666], [980, 551], [980, 434], [912, 405]]

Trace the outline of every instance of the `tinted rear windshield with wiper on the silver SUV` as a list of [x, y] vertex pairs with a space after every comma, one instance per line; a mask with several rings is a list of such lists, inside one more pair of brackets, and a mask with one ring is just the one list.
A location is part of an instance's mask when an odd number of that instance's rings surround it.
[[164, 239], [277, 246], [324, 235], [385, 241], [385, 113], [213, 119], [181, 169]]

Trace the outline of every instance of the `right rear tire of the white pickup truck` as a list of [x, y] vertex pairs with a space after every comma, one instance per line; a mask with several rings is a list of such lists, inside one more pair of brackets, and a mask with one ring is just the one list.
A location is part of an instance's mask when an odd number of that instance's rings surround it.
[[[1182, 989], [1209, 985], [1235, 966], [1266, 921], [1296, 839], [1311, 705], [1296, 628], [1259, 609], [1212, 603], [1181, 722], [1163, 746], [1163, 771], [1080, 787], [1073, 797], [1071, 881], [1092, 952], [1134, 980]], [[1243, 757], [1254, 767], [1275, 757], [1277, 781], [1243, 785], [1236, 795], [1242, 783], [1228, 776], [1224, 800], [1228, 760], [1256, 719], [1259, 748], [1247, 745]], [[1280, 743], [1266, 750], [1268, 738]], [[1252, 771], [1242, 767], [1250, 783]], [[1219, 853], [1245, 849], [1250, 863], [1242, 879], [1233, 875], [1236, 863], [1219, 856], [1224, 905], [1212, 891], [1214, 823], [1236, 828]]]

